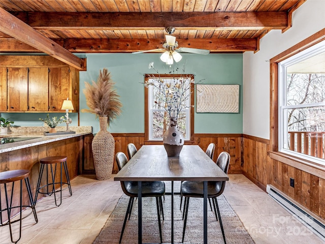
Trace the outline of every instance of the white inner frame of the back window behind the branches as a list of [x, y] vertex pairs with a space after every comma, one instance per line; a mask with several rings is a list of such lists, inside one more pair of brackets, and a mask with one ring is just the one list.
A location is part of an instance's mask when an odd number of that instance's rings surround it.
[[[175, 78], [171, 78], [171, 77], [164, 77], [164, 76], [161, 76], [161, 79], [164, 79], [164, 80], [173, 80]], [[190, 78], [186, 79], [186, 82], [187, 84], [190, 82], [189, 80]], [[157, 81], [155, 81], [155, 79], [152, 79], [152, 78], [148, 78], [148, 80], [150, 82], [156, 82], [158, 83]], [[165, 81], [165, 82], [166, 82]], [[153, 112], [154, 111], [162, 111], [162, 112], [165, 112], [166, 110], [164, 108], [161, 108], [161, 109], [153, 109], [153, 85], [149, 85], [148, 86], [148, 130], [149, 130], [149, 141], [163, 141], [163, 137], [161, 138], [153, 138], [152, 137], [152, 115], [153, 115]], [[182, 109], [181, 111], [185, 112], [185, 116], [186, 116], [186, 123], [185, 123], [185, 130], [186, 130], [186, 137], [184, 137], [184, 140], [185, 141], [188, 141], [190, 140], [190, 105], [191, 105], [191, 96], [190, 96], [190, 93], [191, 93], [191, 89], [187, 89], [186, 90], [186, 94], [185, 96], [187, 97], [187, 100], [185, 102], [186, 104], [186, 108]]]

